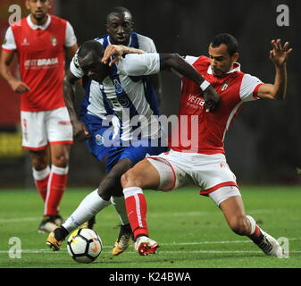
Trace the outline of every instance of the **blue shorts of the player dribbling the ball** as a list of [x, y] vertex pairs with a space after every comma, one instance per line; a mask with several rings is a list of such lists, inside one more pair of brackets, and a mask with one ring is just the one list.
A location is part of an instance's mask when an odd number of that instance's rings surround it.
[[150, 139], [148, 139], [147, 141], [148, 144], [144, 144], [144, 146], [129, 144], [129, 146], [126, 147], [112, 147], [112, 149], [110, 149], [108, 153], [105, 171], [110, 172], [113, 166], [124, 158], [129, 158], [133, 164], [137, 164], [146, 156], [159, 155], [168, 150], [168, 147], [160, 146], [160, 140], [159, 144], [156, 144], [155, 147], [152, 146]]

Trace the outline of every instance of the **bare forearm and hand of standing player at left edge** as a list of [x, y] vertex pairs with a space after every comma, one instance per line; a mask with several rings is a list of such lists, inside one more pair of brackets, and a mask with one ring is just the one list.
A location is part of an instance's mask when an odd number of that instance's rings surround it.
[[13, 55], [14, 52], [9, 53], [2, 50], [0, 58], [0, 73], [4, 80], [6, 80], [11, 86], [13, 91], [18, 93], [29, 91], [29, 86], [25, 82], [16, 79], [11, 72], [10, 65], [13, 61]]

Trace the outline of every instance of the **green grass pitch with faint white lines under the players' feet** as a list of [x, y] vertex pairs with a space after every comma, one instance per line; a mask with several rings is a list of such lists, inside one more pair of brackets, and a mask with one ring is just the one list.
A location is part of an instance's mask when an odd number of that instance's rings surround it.
[[[69, 216], [89, 189], [68, 189], [61, 204]], [[119, 218], [113, 206], [96, 216], [96, 232], [104, 249], [95, 262], [84, 265], [71, 259], [66, 242], [58, 252], [46, 247], [47, 235], [38, 233], [43, 204], [38, 192], [0, 191], [1, 268], [299, 268], [301, 190], [299, 187], [244, 187], [241, 189], [247, 214], [273, 237], [289, 240], [289, 258], [266, 257], [246, 237], [240, 237], [225, 223], [222, 212], [198, 189], [171, 193], [145, 191], [150, 237], [161, 243], [158, 254], [140, 257], [133, 247], [113, 257], [111, 248], [119, 233]], [[12, 237], [21, 240], [21, 258], [10, 258]]]

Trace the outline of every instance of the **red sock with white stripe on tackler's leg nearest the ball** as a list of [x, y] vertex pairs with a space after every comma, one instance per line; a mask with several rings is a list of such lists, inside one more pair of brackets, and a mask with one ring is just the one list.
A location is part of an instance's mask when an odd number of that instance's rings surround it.
[[148, 236], [146, 224], [147, 205], [142, 189], [138, 187], [126, 188], [123, 189], [123, 193], [134, 239], [136, 240], [140, 235]]

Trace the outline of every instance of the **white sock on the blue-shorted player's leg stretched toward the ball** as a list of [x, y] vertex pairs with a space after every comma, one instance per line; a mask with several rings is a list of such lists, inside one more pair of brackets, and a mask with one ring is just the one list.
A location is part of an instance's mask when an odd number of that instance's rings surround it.
[[62, 225], [67, 231], [71, 232], [109, 205], [111, 205], [111, 202], [100, 198], [96, 189], [81, 201], [78, 208]]

